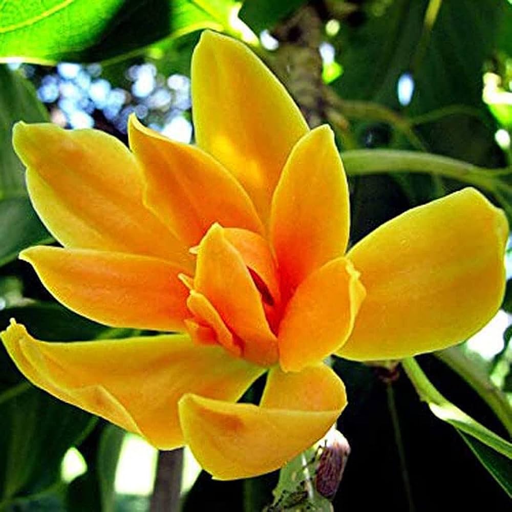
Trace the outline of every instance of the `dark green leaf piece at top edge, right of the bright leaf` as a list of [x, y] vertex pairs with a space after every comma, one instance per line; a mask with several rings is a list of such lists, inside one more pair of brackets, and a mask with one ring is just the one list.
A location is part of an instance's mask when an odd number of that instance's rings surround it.
[[305, 3], [306, 0], [288, 0], [288, 2], [245, 0], [239, 17], [255, 33], [259, 34], [265, 29], [272, 29], [278, 22]]

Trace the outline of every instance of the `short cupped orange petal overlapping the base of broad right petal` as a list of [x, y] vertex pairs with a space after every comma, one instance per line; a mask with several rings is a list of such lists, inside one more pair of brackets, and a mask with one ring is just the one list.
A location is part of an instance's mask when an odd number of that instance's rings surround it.
[[346, 258], [309, 275], [288, 303], [279, 327], [281, 368], [302, 370], [342, 346], [364, 298], [359, 272]]

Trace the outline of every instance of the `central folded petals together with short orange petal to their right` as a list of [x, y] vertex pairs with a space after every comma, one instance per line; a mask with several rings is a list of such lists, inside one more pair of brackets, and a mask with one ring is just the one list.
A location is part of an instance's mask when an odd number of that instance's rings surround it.
[[185, 325], [196, 343], [221, 345], [259, 366], [279, 361], [283, 370], [299, 371], [350, 334], [365, 293], [346, 258], [292, 288], [258, 233], [214, 224], [194, 252], [194, 277], [180, 279], [189, 289]]

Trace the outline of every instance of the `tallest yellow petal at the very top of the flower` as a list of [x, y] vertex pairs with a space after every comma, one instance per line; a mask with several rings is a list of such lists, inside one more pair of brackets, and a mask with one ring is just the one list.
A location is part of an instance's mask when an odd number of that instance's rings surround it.
[[192, 57], [196, 140], [238, 178], [262, 219], [295, 142], [308, 130], [282, 84], [245, 45], [203, 32]]

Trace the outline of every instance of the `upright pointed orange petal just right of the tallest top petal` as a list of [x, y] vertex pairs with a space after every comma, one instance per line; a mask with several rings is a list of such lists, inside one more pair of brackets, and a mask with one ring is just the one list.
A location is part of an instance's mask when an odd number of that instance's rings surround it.
[[272, 199], [270, 239], [290, 294], [312, 271], [343, 255], [349, 216], [334, 134], [320, 126], [293, 148]]

